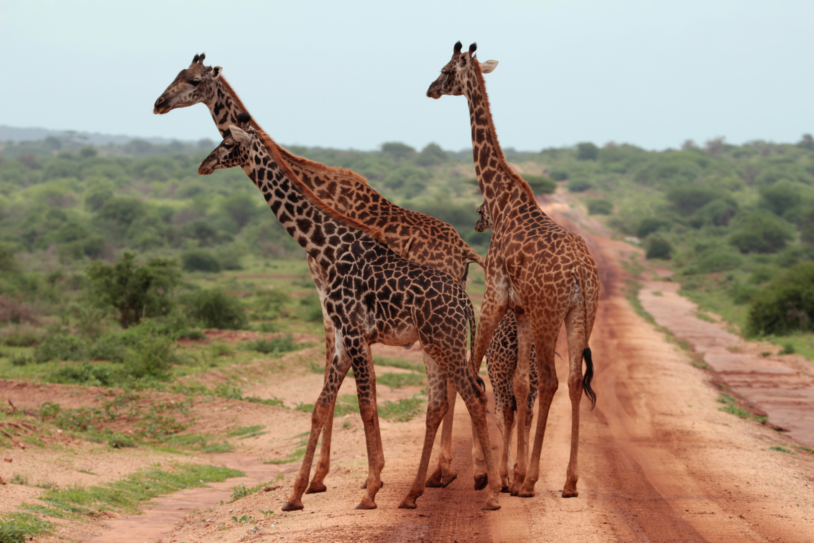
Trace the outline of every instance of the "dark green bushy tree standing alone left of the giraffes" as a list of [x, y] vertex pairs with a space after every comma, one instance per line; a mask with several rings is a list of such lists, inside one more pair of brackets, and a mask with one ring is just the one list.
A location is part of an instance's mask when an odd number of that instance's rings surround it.
[[173, 289], [181, 279], [176, 261], [153, 258], [139, 265], [132, 252], [124, 252], [112, 266], [96, 261], [86, 274], [92, 296], [119, 312], [122, 328], [138, 324], [142, 317], [169, 313]]

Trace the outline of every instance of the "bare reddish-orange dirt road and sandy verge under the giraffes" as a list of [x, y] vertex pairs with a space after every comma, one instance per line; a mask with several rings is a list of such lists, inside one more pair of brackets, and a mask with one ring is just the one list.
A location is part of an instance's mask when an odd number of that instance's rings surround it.
[[[472, 490], [470, 424], [458, 400], [453, 465], [459, 477], [448, 488], [427, 488], [416, 510], [396, 506], [418, 466], [422, 419], [382, 423], [387, 466], [385, 486], [377, 496], [379, 508], [357, 511], [353, 507], [361, 497], [359, 484], [366, 474], [365, 449], [361, 422], [348, 415], [335, 421], [328, 491], [304, 496], [303, 511], [280, 510], [293, 484], [294, 472], [289, 470], [297, 464], [270, 466], [255, 477], [271, 478], [279, 473], [280, 488], [223, 506], [214, 505], [221, 494], [209, 501], [200, 493], [194, 501], [175, 501], [176, 508], [185, 508], [182, 519], [166, 527], [169, 531], [160, 541], [814, 541], [814, 456], [804, 451], [770, 450], [773, 445], [790, 443], [790, 438], [772, 427], [720, 411], [719, 389], [712, 383], [715, 376], [692, 366], [689, 353], [632, 310], [623, 291], [628, 276], [619, 262], [637, 248], [613, 241], [597, 233], [598, 229], [581, 229], [574, 221], [579, 217], [569, 215], [573, 210], [567, 204], [549, 203], [545, 208], [588, 239], [603, 282], [591, 338], [597, 406], [591, 410], [584, 401], [580, 414], [579, 497], [559, 496], [571, 421], [566, 365], [557, 359], [561, 383], [549, 416], [535, 497], [501, 494], [501, 510], [479, 510], [484, 492]], [[659, 282], [662, 291], [663, 284]], [[560, 340], [558, 351], [562, 352], [563, 334]], [[322, 360], [318, 351], [315, 348], [309, 356]], [[384, 356], [418, 360], [420, 353], [400, 350]], [[376, 371], [395, 370], [377, 367]], [[258, 378], [256, 383], [247, 383], [245, 390], [287, 402], [313, 403], [321, 376], [295, 372], [289, 377], [274, 382]], [[388, 398], [407, 393], [386, 388], [380, 392]], [[352, 385], [346, 383], [342, 393], [353, 393]], [[263, 405], [237, 413], [237, 404], [224, 402], [213, 405], [208, 417], [223, 413], [234, 418], [234, 424], [269, 427], [269, 434], [249, 440], [252, 443], [239, 454], [231, 455], [234, 461], [230, 455], [218, 455], [217, 462], [225, 465], [239, 462], [238, 457], [249, 463], [278, 458], [291, 451], [294, 436], [309, 430], [307, 414]], [[810, 413], [812, 405], [799, 404], [794, 409]], [[493, 420], [491, 423], [493, 446], [499, 453], [500, 440]], [[30, 449], [24, 453], [28, 452]], [[220, 491], [213, 490], [212, 497], [216, 492]], [[201, 510], [190, 511], [192, 506]], [[243, 523], [232, 519], [243, 515], [251, 519]], [[136, 519], [151, 522], [148, 516], [134, 517], [133, 522]], [[116, 522], [110, 521], [112, 525]], [[109, 529], [127, 536], [126, 530]], [[96, 528], [95, 533], [99, 532]], [[148, 541], [112, 538], [111, 533], [107, 539], [95, 541]]]

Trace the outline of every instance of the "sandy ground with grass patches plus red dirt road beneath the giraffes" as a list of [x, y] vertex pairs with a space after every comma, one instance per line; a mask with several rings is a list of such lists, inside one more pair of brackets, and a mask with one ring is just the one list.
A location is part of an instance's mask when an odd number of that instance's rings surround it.
[[[764, 418], [759, 405], [733, 392], [731, 375], [654, 323], [646, 309], [665, 297], [654, 294], [659, 283], [652, 281], [664, 270], [641, 264], [640, 249], [602, 235], [597, 222], [564, 201], [555, 197], [544, 207], [589, 239], [603, 281], [591, 340], [599, 400], [596, 409], [584, 402], [581, 411], [580, 497], [558, 495], [570, 434], [562, 382], [536, 497], [501, 495], [501, 510], [479, 510], [470, 424], [458, 401], [458, 479], [428, 488], [417, 510], [396, 509], [418, 464], [425, 383], [417, 348], [376, 346], [380, 412], [387, 418], [379, 509], [353, 509], [366, 461], [348, 380], [334, 423], [328, 491], [305, 496], [303, 511], [282, 513], [324, 360], [320, 323], [292, 315], [287, 353], [250, 350], [257, 339], [285, 337], [274, 331], [212, 330], [205, 339], [182, 340], [177, 349], [186, 363], [163, 388], [38, 383], [50, 362], [13, 366], [3, 359], [8, 380], [0, 398], [11, 403], [0, 415], [0, 456], [7, 459], [0, 462], [7, 482], [0, 508], [11, 516], [0, 541], [15, 541], [11, 525], [39, 532], [35, 541], [811, 541], [812, 443], [778, 431], [771, 413]], [[311, 293], [304, 263], [279, 265], [284, 269], [201, 275], [199, 282], [228, 282], [234, 291], [286, 288], [294, 300]], [[474, 266], [469, 290], [477, 306], [483, 275]], [[708, 314], [697, 320], [701, 335], [703, 326], [720, 329]], [[751, 348], [757, 361], [786, 358], [777, 348], [767, 357], [758, 353], [764, 347]], [[798, 377], [807, 377], [810, 362], [794, 357], [789, 363], [799, 365]], [[566, 366], [557, 361], [562, 380]], [[498, 453], [493, 421], [492, 441]], [[161, 495], [175, 500], [158, 498], [163, 516], [133, 515]]]

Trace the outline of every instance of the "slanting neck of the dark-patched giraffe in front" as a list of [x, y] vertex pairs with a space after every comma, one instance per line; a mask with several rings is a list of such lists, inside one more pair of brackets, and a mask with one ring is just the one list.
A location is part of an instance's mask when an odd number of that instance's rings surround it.
[[378, 231], [339, 215], [317, 198], [281, 160], [273, 144], [255, 141], [243, 171], [263, 193], [288, 234], [329, 274], [352, 243], [381, 243]]

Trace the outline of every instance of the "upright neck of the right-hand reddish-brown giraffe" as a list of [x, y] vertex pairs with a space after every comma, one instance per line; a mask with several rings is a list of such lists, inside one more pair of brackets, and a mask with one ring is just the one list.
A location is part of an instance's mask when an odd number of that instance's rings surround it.
[[501, 144], [495, 134], [492, 111], [479, 64], [471, 62], [468, 72], [465, 94], [472, 126], [475, 174], [484, 195], [484, 203], [492, 217], [492, 225], [497, 228], [506, 210], [517, 204], [518, 200], [531, 203], [535, 208], [537, 205], [531, 187], [506, 164]]

